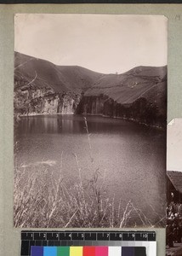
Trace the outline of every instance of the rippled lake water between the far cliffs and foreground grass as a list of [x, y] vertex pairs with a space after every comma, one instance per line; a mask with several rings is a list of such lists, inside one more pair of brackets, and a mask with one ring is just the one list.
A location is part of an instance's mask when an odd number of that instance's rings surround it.
[[87, 116], [87, 123], [90, 145], [83, 116], [21, 118], [14, 134], [16, 166], [26, 172], [45, 166], [57, 173], [62, 154], [62, 173], [70, 186], [78, 179], [77, 154], [83, 183], [98, 170], [105, 176], [106, 195], [115, 195], [122, 207], [133, 201], [156, 223], [165, 215], [165, 133], [122, 119]]

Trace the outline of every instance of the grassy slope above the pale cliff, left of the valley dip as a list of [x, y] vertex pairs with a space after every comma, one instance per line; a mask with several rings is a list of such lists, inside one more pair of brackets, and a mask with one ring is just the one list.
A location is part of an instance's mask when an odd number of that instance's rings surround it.
[[17, 52], [14, 55], [14, 67], [15, 79], [26, 79], [29, 82], [36, 77], [37, 73], [37, 79], [33, 84], [40, 88], [51, 87], [55, 92], [70, 90], [80, 92], [102, 76], [84, 67], [59, 67], [49, 61]]

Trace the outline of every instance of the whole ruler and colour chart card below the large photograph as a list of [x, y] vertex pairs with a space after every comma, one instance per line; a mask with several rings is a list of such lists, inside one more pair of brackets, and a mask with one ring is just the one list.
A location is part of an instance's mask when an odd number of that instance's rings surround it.
[[23, 230], [20, 256], [156, 256], [156, 232]]

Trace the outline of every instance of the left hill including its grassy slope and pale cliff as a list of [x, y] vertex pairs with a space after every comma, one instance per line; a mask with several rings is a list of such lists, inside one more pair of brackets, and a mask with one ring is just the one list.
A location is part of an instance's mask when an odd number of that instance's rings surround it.
[[60, 67], [15, 52], [14, 113], [75, 113], [82, 92], [101, 76], [84, 67]]

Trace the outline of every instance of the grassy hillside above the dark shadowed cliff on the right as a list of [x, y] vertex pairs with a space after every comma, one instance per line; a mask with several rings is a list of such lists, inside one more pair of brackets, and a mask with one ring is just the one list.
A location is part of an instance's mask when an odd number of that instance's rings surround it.
[[122, 104], [132, 103], [142, 96], [160, 102], [166, 90], [162, 81], [165, 75], [166, 67], [135, 67], [128, 73], [105, 75], [87, 90], [85, 96], [102, 93]]

